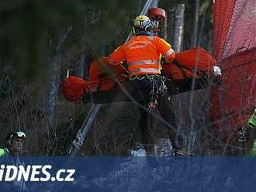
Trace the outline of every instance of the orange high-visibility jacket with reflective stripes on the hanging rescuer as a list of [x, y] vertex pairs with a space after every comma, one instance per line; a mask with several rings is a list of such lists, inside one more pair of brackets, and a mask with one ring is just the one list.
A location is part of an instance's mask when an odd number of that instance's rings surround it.
[[109, 63], [117, 65], [126, 60], [130, 77], [137, 74], [160, 74], [161, 55], [168, 62], [175, 59], [171, 45], [158, 36], [133, 36], [109, 55]]

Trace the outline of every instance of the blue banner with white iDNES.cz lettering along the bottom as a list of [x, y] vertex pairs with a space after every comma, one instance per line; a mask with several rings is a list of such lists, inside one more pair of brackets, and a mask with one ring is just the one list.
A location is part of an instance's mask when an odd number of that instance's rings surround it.
[[256, 159], [20, 157], [0, 159], [0, 191], [255, 191]]

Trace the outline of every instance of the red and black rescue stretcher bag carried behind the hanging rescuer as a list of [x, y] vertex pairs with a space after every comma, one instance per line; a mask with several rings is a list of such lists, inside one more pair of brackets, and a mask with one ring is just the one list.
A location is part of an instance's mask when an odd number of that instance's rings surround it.
[[[113, 99], [122, 93], [122, 86], [129, 81], [125, 63], [112, 66], [107, 57], [94, 60], [89, 67], [89, 81], [79, 77], [67, 77], [62, 82], [62, 93], [67, 101], [74, 103], [109, 103], [129, 101], [126, 97]], [[200, 47], [177, 53], [172, 63], [162, 62], [162, 73], [169, 94], [201, 89], [220, 82], [220, 75], [214, 74], [216, 61]], [[193, 87], [192, 87], [192, 81]]]

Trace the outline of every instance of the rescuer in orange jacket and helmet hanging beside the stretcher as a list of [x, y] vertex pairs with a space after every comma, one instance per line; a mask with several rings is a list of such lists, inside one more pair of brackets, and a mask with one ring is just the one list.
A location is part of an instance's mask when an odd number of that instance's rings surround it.
[[182, 137], [176, 136], [177, 127], [174, 111], [171, 110], [168, 100], [167, 87], [161, 74], [161, 56], [165, 58], [166, 64], [175, 59], [175, 51], [171, 45], [158, 36], [153, 36], [150, 31], [153, 24], [145, 15], [137, 16], [133, 20], [133, 36], [128, 42], [119, 46], [109, 55], [109, 63], [117, 65], [126, 60], [130, 72], [130, 81], [125, 84], [126, 91], [133, 95], [139, 95], [142, 99], [135, 99], [140, 104], [140, 129], [144, 148], [148, 152], [152, 136], [150, 125], [152, 124], [152, 113], [148, 110], [155, 107], [160, 111], [161, 118], [168, 128], [168, 137], [174, 149], [182, 147]]

